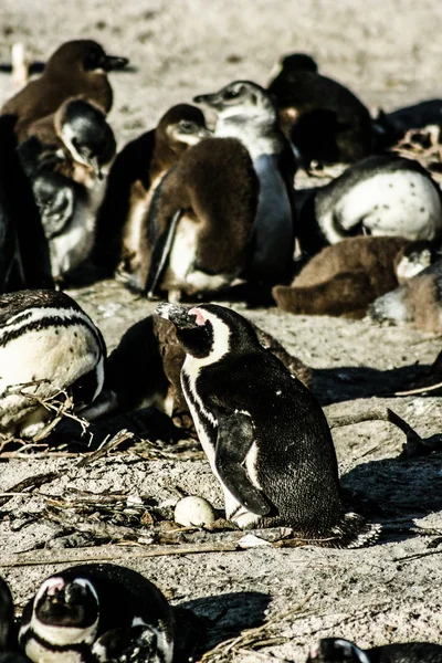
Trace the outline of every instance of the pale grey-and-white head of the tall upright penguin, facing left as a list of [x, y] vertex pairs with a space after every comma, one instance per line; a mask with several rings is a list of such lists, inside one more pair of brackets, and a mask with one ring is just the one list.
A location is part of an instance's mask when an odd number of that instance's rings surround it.
[[193, 97], [196, 104], [212, 108], [219, 117], [269, 116], [274, 119], [276, 109], [272, 95], [251, 81], [234, 81], [213, 94]]

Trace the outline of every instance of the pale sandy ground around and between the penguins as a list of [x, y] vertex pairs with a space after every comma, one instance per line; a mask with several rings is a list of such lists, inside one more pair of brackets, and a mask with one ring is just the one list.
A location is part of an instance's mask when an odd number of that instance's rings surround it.
[[[295, 50], [312, 53], [324, 73], [348, 84], [372, 108], [392, 110], [442, 97], [442, 4], [366, 0], [361, 8], [356, 0], [76, 0], [71, 4], [2, 0], [0, 61], [9, 60], [15, 41], [23, 40], [32, 57], [43, 60], [61, 42], [82, 36], [130, 57], [136, 71], [112, 77], [115, 103], [109, 122], [120, 145], [155, 126], [170, 105], [189, 102], [194, 94], [240, 77], [265, 84], [277, 57]], [[9, 92], [10, 80], [2, 76], [0, 98]], [[103, 330], [109, 349], [131, 323], [152, 311], [150, 304], [110, 282], [73, 294]], [[440, 398], [375, 396], [393, 390], [415, 368], [431, 364], [440, 338], [368, 320], [238, 308], [315, 369], [315, 391], [328, 417], [368, 410], [383, 413], [391, 407], [420, 434], [440, 431]], [[166, 451], [157, 460], [146, 460], [129, 449], [85, 467], [77, 465], [81, 456], [51, 454], [2, 462], [3, 493], [36, 474], [57, 475], [22, 495], [0, 495], [0, 571], [21, 607], [38, 582], [67, 566], [70, 558], [75, 560], [84, 551], [95, 558], [110, 556], [146, 573], [175, 603], [214, 620], [208, 646], [269, 620], [267, 629], [255, 633], [254, 640], [249, 634], [230, 652], [224, 646], [219, 659], [212, 653], [211, 660], [301, 663], [311, 644], [330, 635], [362, 646], [440, 642], [442, 456], [398, 460], [404, 438], [386, 421], [334, 429], [334, 439], [344, 486], [357, 492], [369, 518], [386, 525], [379, 544], [371, 548], [267, 546], [143, 557], [149, 549], [148, 520], [130, 545], [63, 548], [73, 544], [65, 538], [70, 528], [60, 517], [50, 517], [51, 508], [63, 511], [85, 491], [120, 495], [124, 518], [114, 518], [115, 527], [130, 525], [130, 517], [140, 523], [137, 507], [130, 512], [128, 496], [143, 498], [143, 512], [151, 505], [165, 509], [165, 503], [177, 499], [178, 487], [222, 506], [218, 484], [200, 453], [188, 457], [171, 450], [169, 455]], [[66, 513], [69, 519], [72, 511]], [[87, 522], [99, 520], [103, 514], [99, 508], [85, 513]], [[86, 545], [87, 533], [82, 536], [77, 543]], [[209, 544], [217, 538], [201, 537]], [[27, 559], [27, 566], [13, 566]]]

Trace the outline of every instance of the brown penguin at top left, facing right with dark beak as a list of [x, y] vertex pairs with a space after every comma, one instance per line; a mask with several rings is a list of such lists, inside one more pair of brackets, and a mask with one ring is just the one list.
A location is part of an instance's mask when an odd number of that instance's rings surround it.
[[1, 114], [17, 117], [15, 134], [21, 141], [34, 122], [55, 113], [71, 97], [81, 95], [108, 113], [113, 95], [107, 72], [127, 62], [126, 57], [107, 55], [91, 40], [66, 42], [51, 55], [43, 74], [10, 98]]

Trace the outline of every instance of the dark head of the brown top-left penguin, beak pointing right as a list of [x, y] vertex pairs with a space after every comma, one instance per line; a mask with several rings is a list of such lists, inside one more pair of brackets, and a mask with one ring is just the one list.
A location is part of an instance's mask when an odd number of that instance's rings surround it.
[[106, 73], [123, 69], [128, 62], [127, 57], [107, 55], [95, 41], [78, 39], [59, 46], [48, 60], [44, 74], [66, 76], [70, 72]]

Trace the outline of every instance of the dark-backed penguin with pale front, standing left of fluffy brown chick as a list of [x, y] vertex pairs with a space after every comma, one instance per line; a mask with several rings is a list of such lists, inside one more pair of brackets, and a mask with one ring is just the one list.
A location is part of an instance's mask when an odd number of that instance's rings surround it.
[[110, 168], [97, 214], [93, 261], [98, 267], [108, 275], [116, 271], [123, 283], [137, 281], [141, 234], [148, 232], [154, 191], [180, 156], [210, 135], [199, 108], [178, 104], [165, 113], [156, 129], [123, 148]]

